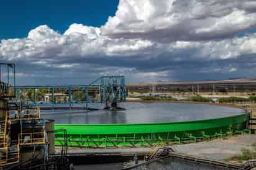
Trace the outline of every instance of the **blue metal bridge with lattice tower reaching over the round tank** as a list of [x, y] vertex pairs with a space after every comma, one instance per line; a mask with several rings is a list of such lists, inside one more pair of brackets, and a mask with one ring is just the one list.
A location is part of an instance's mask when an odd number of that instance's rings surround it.
[[126, 100], [124, 76], [102, 76], [88, 85], [15, 86], [15, 99], [22, 105], [54, 105], [103, 102], [109, 104]]

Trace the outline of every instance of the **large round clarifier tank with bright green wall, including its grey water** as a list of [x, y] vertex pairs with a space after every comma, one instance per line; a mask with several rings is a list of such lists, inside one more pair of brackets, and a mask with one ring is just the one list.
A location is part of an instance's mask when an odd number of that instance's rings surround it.
[[[81, 105], [78, 105], [81, 106]], [[55, 130], [65, 129], [71, 146], [151, 145], [155, 142], [201, 140], [244, 132], [249, 114], [235, 107], [168, 102], [125, 102], [126, 110], [42, 110], [54, 119]], [[63, 135], [55, 134], [55, 145]]]

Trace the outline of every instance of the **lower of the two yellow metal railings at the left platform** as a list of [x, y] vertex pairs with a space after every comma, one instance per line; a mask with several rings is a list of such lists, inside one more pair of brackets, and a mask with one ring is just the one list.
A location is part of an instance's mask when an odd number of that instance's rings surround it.
[[45, 144], [45, 132], [20, 133], [18, 145], [40, 145]]

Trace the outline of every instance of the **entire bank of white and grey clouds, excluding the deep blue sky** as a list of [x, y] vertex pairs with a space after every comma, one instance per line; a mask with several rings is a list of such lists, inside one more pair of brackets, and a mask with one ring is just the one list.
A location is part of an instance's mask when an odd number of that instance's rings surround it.
[[0, 61], [17, 63], [26, 78], [256, 76], [256, 34], [244, 34], [255, 24], [254, 1], [120, 0], [101, 27], [71, 24], [61, 34], [40, 25], [27, 37], [1, 40]]

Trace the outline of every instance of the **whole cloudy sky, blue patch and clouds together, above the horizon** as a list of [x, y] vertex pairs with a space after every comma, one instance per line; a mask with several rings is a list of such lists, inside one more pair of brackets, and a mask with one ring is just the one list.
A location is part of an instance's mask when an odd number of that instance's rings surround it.
[[8, 1], [0, 20], [20, 85], [256, 77], [256, 1]]

